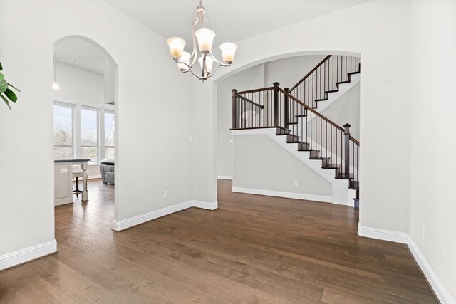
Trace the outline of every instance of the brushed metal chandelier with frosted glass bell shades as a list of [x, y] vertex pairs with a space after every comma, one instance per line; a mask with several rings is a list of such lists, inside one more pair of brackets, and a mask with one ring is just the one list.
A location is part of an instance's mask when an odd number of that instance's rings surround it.
[[[209, 28], [206, 28], [206, 21], [209, 23], [210, 21], [206, 17], [206, 11], [201, 2], [202, 1], [199, 1], [199, 6], [197, 7], [197, 16], [193, 19], [192, 53], [190, 54], [184, 51], [185, 40], [182, 38], [172, 37], [169, 38], [166, 43], [170, 47], [171, 57], [177, 63], [177, 68], [179, 68], [182, 73], [190, 71], [195, 78], [204, 82], [207, 78], [212, 77], [221, 66], [229, 66], [233, 63], [237, 45], [230, 42], [222, 43], [220, 45], [223, 63], [214, 57], [212, 54], [212, 41], [214, 40], [215, 33]], [[200, 53], [197, 51], [197, 44]], [[201, 68], [201, 74], [198, 72], [195, 73], [192, 70], [197, 60], [199, 62], [199, 67]], [[214, 62], [217, 64], [216, 67], [214, 67]]]

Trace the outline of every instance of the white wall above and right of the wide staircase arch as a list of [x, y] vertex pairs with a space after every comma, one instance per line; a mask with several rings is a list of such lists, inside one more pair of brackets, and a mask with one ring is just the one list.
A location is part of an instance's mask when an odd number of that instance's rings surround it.
[[[361, 54], [360, 224], [408, 232], [410, 1], [367, 1], [237, 45], [239, 69], [284, 54]], [[236, 70], [221, 70], [217, 78], [229, 73]]]

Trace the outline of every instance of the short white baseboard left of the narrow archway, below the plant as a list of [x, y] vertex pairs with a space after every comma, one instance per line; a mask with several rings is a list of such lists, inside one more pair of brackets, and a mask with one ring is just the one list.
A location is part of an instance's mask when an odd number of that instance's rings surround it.
[[0, 271], [57, 252], [57, 241], [48, 241], [0, 256]]

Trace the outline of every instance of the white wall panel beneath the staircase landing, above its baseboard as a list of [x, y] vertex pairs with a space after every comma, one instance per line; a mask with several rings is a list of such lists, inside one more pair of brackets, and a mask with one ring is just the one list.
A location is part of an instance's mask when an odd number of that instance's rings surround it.
[[234, 136], [233, 158], [233, 187], [332, 196], [330, 182], [267, 135]]

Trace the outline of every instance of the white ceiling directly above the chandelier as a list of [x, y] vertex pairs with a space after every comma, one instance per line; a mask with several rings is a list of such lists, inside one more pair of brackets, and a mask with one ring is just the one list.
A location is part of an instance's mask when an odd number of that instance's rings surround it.
[[[191, 48], [192, 21], [199, 0], [105, 1], [165, 38], [184, 38]], [[203, 0], [202, 5], [212, 23], [210, 28], [217, 33], [214, 44], [219, 45], [366, 1], [368, 0]]]

